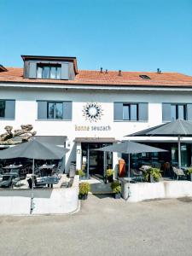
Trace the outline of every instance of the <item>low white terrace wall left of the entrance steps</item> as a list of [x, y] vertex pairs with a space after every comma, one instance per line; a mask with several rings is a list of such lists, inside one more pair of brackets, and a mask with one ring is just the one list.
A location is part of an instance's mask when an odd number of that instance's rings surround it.
[[[31, 189], [0, 189], [0, 215], [30, 214]], [[34, 189], [32, 214], [62, 214], [79, 207], [79, 176], [71, 188]]]

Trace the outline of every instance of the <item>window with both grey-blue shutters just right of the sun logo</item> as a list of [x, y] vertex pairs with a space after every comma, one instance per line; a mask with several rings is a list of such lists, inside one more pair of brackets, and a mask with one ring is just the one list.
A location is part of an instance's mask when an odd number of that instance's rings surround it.
[[114, 102], [114, 121], [148, 121], [148, 103]]

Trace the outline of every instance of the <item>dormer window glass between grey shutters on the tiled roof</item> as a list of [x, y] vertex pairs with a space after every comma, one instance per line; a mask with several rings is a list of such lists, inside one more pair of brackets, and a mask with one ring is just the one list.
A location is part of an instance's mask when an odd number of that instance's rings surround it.
[[37, 65], [38, 79], [61, 79], [61, 65], [56, 64], [42, 64]]

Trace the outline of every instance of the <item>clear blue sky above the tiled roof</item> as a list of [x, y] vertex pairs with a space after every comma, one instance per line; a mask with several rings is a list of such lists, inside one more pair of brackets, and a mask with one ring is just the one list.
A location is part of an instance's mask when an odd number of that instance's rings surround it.
[[192, 75], [192, 0], [0, 0], [0, 63], [67, 55], [79, 69]]

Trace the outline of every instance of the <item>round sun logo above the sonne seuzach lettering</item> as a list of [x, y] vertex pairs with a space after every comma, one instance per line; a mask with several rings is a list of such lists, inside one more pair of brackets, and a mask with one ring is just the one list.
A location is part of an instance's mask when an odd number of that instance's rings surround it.
[[96, 122], [102, 119], [102, 107], [98, 103], [87, 103], [83, 109], [83, 115], [86, 120]]

